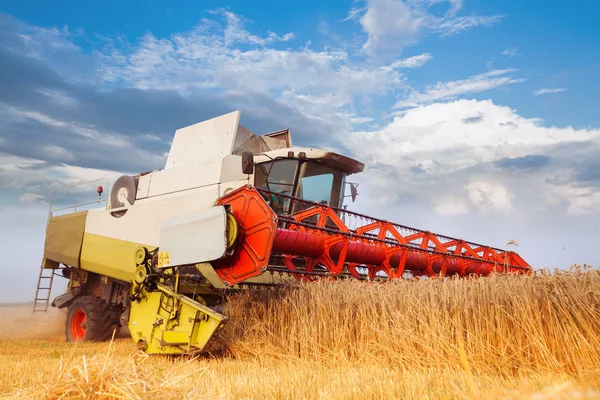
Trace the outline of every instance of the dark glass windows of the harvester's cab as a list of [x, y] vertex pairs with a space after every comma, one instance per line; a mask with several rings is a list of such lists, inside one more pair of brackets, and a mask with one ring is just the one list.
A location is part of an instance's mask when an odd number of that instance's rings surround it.
[[[271, 192], [342, 207], [346, 174], [319, 160], [281, 159], [256, 166], [256, 186]], [[271, 204], [277, 213], [296, 212], [283, 198]]]

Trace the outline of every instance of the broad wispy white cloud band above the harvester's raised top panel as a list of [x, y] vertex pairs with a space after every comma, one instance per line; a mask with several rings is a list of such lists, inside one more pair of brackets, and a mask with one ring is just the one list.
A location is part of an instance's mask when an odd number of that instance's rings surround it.
[[[329, 118], [342, 110], [349, 118], [363, 118], [355, 111], [361, 109], [355, 102], [405, 90], [401, 70], [420, 67], [432, 58], [423, 53], [374, 67], [343, 47], [320, 51], [273, 48], [267, 45], [286, 35], [251, 35], [240, 17], [224, 15], [224, 25], [203, 20], [194, 29], [169, 38], [148, 33], [136, 46], [114, 42], [103, 50], [104, 82], [177, 90], [183, 95], [214, 91], [252, 98], [260, 94], [311, 118]], [[241, 49], [239, 43], [246, 46]], [[340, 121], [340, 125], [348, 124], [348, 119]]]

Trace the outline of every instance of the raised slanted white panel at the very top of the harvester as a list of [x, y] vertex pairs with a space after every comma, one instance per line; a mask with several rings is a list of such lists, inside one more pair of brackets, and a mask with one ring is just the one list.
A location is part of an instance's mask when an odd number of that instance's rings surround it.
[[240, 111], [175, 131], [165, 169], [221, 159], [233, 151]]

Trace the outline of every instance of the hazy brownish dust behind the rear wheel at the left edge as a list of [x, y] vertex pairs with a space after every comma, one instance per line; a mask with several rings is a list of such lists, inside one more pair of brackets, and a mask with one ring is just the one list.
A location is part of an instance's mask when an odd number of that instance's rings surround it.
[[0, 339], [51, 339], [64, 337], [66, 310], [48, 307], [33, 313], [33, 306], [0, 307]]

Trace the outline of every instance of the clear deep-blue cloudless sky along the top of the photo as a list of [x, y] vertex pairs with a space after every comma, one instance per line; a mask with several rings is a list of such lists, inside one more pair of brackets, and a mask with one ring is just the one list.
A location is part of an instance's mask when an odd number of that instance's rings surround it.
[[[346, 40], [364, 34], [359, 24], [346, 19], [349, 10], [362, 6], [355, 1], [234, 1], [225, 8], [247, 18], [247, 27], [253, 33], [294, 32], [294, 39], [273, 47], [294, 48], [311, 41], [313, 48], [318, 49], [335, 42], [332, 38]], [[211, 18], [210, 11], [221, 7], [223, 3], [217, 1], [0, 2], [3, 12], [29, 24], [83, 30], [76, 42], [86, 51], [92, 51], [99, 43], [98, 35], [122, 35], [131, 42], [147, 32], [157, 38], [169, 38], [173, 33], [194, 28], [201, 18]], [[443, 15], [449, 7], [449, 3], [439, 1], [430, 11]], [[410, 78], [413, 86], [422, 88], [432, 80], [452, 81], [475, 75], [487, 63], [493, 68], [518, 68], [527, 81], [510, 92], [494, 93], [495, 99], [518, 109], [523, 116], [543, 118], [548, 124], [597, 126], [600, 115], [594, 93], [600, 90], [600, 81], [595, 79], [600, 53], [593, 49], [600, 37], [599, 13], [597, 2], [592, 0], [578, 2], [576, 7], [565, 7], [558, 1], [464, 1], [461, 16], [501, 16], [499, 22], [451, 37], [423, 35], [405, 53], [428, 52], [435, 57], [412, 72]], [[505, 50], [515, 54], [502, 55]], [[568, 91], [550, 100], [530, 98], [533, 90], [546, 87], [566, 87]], [[487, 95], [474, 97], [483, 99]]]

